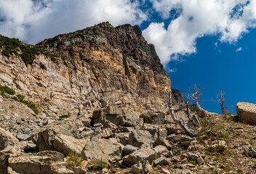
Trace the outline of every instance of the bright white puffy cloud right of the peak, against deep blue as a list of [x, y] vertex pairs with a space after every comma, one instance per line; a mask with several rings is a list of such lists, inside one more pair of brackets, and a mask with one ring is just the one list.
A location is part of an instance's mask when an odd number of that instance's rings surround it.
[[220, 41], [236, 42], [249, 28], [256, 27], [256, 1], [247, 0], [151, 0], [163, 20], [179, 12], [167, 28], [164, 22], [152, 22], [143, 36], [156, 46], [161, 63], [196, 52], [196, 39], [220, 36]]

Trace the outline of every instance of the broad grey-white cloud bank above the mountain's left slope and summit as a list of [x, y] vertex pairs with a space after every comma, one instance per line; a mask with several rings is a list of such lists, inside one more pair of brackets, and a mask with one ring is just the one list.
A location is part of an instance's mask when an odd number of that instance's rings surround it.
[[140, 24], [147, 15], [130, 0], [1, 0], [0, 33], [37, 43], [99, 22]]

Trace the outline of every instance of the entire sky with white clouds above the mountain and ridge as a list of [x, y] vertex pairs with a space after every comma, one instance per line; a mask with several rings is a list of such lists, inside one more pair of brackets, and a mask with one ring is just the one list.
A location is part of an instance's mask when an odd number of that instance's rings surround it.
[[[1, 0], [0, 34], [38, 43], [109, 21], [140, 25], [169, 72], [172, 88], [193, 83], [203, 99], [256, 103], [255, 0]], [[204, 109], [220, 112], [215, 102]], [[235, 109], [235, 108], [233, 108]]]

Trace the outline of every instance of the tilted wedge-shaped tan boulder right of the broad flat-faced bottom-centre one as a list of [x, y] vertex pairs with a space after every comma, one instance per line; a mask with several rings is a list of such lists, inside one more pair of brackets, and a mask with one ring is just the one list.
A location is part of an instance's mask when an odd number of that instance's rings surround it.
[[127, 166], [135, 165], [142, 160], [146, 160], [149, 162], [149, 164], [153, 164], [153, 160], [156, 159], [157, 153], [153, 151], [149, 146], [148, 147], [142, 147], [141, 149], [137, 149], [135, 152], [132, 152], [132, 154], [129, 154], [125, 157], [123, 157], [123, 164]]

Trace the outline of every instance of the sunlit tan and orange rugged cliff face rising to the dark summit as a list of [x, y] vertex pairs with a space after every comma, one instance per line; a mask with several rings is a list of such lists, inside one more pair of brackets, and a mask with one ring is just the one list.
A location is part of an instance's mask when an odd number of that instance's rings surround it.
[[171, 81], [137, 25], [114, 28], [103, 22], [36, 47], [50, 54], [37, 55], [31, 65], [15, 54], [0, 54], [0, 82], [41, 109], [84, 115], [107, 103], [137, 111], [167, 104]]

